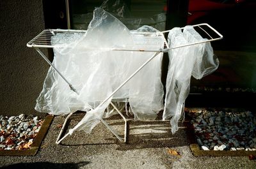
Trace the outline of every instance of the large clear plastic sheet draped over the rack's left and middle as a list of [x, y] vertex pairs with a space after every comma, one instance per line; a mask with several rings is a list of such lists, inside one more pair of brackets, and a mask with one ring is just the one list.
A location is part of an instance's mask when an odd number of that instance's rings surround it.
[[70, 134], [81, 129], [90, 133], [104, 117], [111, 100], [129, 101], [135, 119], [155, 119], [159, 110], [163, 110], [162, 53], [105, 103], [102, 101], [154, 55], [154, 52], [112, 49], [163, 48], [164, 37], [163, 34], [156, 36], [158, 33], [149, 26], [129, 31], [113, 15], [101, 8], [95, 9], [93, 20], [84, 35], [77, 33], [70, 38], [60, 36], [60, 39], [54, 38], [52, 41], [52, 44], [62, 44], [54, 48], [54, 66], [79, 94], [71, 91], [68, 84], [50, 68], [43, 90], [36, 99], [35, 109], [54, 115], [86, 111], [84, 118], [70, 130]]

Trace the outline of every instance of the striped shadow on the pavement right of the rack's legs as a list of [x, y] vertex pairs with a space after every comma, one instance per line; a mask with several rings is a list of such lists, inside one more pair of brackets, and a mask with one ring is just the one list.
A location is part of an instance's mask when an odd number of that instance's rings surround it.
[[180, 128], [174, 135], [168, 121], [131, 121], [127, 143], [118, 143], [118, 150], [182, 147], [189, 145], [184, 139], [186, 128], [179, 124]]

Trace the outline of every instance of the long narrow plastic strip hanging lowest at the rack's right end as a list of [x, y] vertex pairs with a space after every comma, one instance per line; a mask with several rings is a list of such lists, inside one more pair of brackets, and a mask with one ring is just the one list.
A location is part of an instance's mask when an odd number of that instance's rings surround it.
[[[188, 44], [180, 28], [173, 28], [168, 34], [170, 47], [178, 47]], [[166, 97], [163, 119], [169, 119], [172, 125], [172, 133], [178, 130], [178, 122], [182, 115], [185, 99], [189, 94], [191, 72], [194, 58], [190, 50], [193, 47], [182, 47], [170, 50], [168, 74], [166, 78]]]

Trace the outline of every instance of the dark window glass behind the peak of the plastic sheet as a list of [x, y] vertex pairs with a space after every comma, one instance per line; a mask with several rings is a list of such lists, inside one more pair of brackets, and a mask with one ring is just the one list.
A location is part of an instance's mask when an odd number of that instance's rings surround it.
[[109, 11], [129, 29], [148, 25], [161, 31], [165, 30], [166, 0], [72, 0], [70, 1], [71, 28], [87, 29], [96, 7]]

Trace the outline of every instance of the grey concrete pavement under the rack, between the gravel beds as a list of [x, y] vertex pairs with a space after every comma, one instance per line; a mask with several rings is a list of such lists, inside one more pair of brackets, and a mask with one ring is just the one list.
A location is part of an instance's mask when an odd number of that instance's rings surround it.
[[[72, 128], [83, 117], [75, 114], [69, 121]], [[169, 122], [130, 119], [129, 143], [120, 143], [100, 123], [90, 135], [76, 131], [61, 145], [55, 141], [58, 124], [65, 117], [54, 117], [51, 127], [36, 156], [1, 156], [3, 168], [255, 168], [256, 161], [248, 157], [195, 157], [186, 138], [186, 127], [172, 135]], [[107, 120], [122, 135], [124, 122], [113, 116]], [[168, 153], [178, 151], [179, 156]]]

